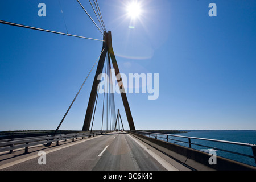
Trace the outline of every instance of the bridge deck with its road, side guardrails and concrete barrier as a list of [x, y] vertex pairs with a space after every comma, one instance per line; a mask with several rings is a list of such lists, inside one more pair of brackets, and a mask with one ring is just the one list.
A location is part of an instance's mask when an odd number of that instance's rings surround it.
[[[2, 139], [0, 170], [255, 171], [256, 169], [255, 166], [220, 156], [216, 156], [216, 164], [210, 164], [210, 156], [207, 152], [191, 147], [192, 144], [196, 144], [191, 142], [193, 137], [186, 137], [189, 142], [184, 143], [188, 143], [189, 147], [184, 147], [171, 142], [176, 140], [171, 138], [173, 136], [175, 135], [164, 137], [163, 134], [157, 133], [121, 130], [108, 133], [95, 131]], [[167, 141], [161, 138], [167, 138]], [[255, 144], [212, 141], [250, 147], [255, 152]], [[48, 144], [49, 142], [51, 145]], [[255, 156], [240, 155], [255, 159]]]

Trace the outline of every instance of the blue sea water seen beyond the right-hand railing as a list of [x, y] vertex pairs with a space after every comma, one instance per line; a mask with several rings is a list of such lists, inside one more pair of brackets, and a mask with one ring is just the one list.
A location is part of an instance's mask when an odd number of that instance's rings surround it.
[[[189, 131], [187, 131], [187, 133], [174, 134], [174, 135], [256, 144], [256, 131], [255, 130], [189, 130]], [[159, 139], [161, 139], [161, 138], [159, 138]], [[162, 138], [162, 139], [167, 140], [164, 138]], [[171, 139], [176, 139], [179, 141], [175, 141], [175, 140], [171, 140]], [[180, 144], [185, 147], [189, 147], [188, 143], [184, 143], [182, 141], [188, 142], [188, 139], [169, 136], [169, 142], [172, 142], [175, 144]], [[234, 144], [219, 143], [219, 142], [209, 142], [209, 141], [198, 140], [198, 139], [191, 139], [191, 143], [201, 145], [201, 146], [197, 146], [195, 144], [192, 144], [192, 148], [195, 148], [196, 150], [200, 150], [200, 151], [204, 151], [204, 152], [208, 152], [208, 153], [209, 153], [209, 151], [216, 151], [216, 154], [218, 156], [236, 160], [238, 162], [249, 164], [251, 166], [256, 166], [254, 158], [249, 158], [247, 156], [241, 156], [238, 154], [232, 154], [232, 153], [220, 150], [220, 149], [228, 150], [228, 151], [233, 151], [233, 152], [238, 152], [238, 153], [253, 156], [253, 150], [251, 147], [238, 146], [238, 145], [234, 145]], [[204, 146], [207, 146], [207, 147], [204, 147]]]

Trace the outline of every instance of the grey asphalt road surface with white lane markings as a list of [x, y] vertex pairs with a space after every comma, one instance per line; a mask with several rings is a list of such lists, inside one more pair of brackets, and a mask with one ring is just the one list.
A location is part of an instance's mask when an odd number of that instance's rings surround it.
[[38, 151], [18, 159], [0, 160], [8, 171], [177, 171], [180, 164], [125, 132], [113, 132], [71, 142], [45, 151], [46, 164], [39, 164]]

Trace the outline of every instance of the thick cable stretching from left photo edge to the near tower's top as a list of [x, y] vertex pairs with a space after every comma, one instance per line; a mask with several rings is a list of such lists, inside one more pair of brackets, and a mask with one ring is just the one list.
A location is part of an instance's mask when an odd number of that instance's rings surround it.
[[0, 20], [0, 23], [2, 23], [2, 24], [8, 24], [8, 25], [11, 25], [11, 26], [16, 26], [16, 27], [29, 28], [29, 29], [32, 29], [32, 30], [39, 30], [39, 31], [44, 31], [44, 32], [51, 32], [51, 33], [53, 33], [53, 34], [74, 36], [74, 37], [76, 37], [76, 38], [90, 39], [90, 40], [97, 40], [97, 41], [105, 42], [104, 40], [86, 38], [86, 37], [84, 37], [84, 36], [79, 36], [79, 35], [65, 34], [65, 33], [63, 33], [63, 32], [56, 32], [56, 31], [46, 30], [46, 29], [42, 29], [42, 28], [30, 27], [30, 26], [26, 26], [26, 25], [23, 25], [23, 24], [6, 22], [6, 21], [3, 21], [3, 20]]

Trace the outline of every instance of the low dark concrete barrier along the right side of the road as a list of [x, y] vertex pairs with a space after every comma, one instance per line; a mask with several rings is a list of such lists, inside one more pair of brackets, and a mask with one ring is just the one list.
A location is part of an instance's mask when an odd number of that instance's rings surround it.
[[209, 158], [211, 156], [206, 152], [146, 137], [134, 132], [129, 133], [197, 171], [256, 171], [256, 167], [254, 166], [222, 158], [221, 156], [216, 156], [217, 164], [211, 165], [209, 164]]

